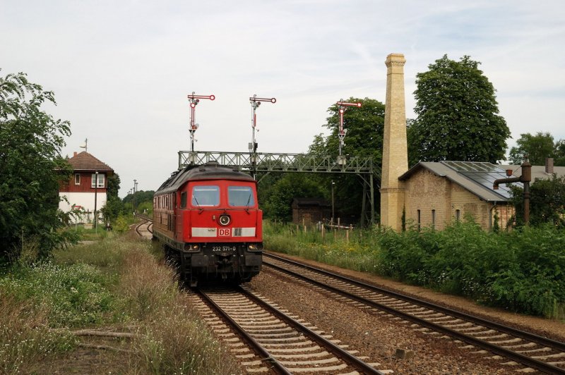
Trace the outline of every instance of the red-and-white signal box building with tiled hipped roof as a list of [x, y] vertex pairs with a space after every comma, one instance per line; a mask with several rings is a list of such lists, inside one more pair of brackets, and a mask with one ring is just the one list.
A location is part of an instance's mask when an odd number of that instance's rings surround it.
[[67, 161], [73, 167], [73, 177], [59, 187], [59, 197], [66, 197], [66, 201], [59, 202], [59, 209], [64, 212], [78, 209], [82, 214], [76, 221], [92, 223], [95, 208], [100, 212], [106, 204], [107, 177], [114, 170], [85, 151], [75, 152]]

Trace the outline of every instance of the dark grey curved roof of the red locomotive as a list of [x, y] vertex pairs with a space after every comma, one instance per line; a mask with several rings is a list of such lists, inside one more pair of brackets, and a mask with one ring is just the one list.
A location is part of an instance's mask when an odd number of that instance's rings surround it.
[[246, 173], [237, 171], [228, 166], [220, 166], [217, 162], [208, 162], [201, 166], [186, 166], [182, 171], [174, 173], [155, 192], [155, 195], [164, 192], [176, 191], [186, 183], [194, 180], [243, 180], [255, 181]]

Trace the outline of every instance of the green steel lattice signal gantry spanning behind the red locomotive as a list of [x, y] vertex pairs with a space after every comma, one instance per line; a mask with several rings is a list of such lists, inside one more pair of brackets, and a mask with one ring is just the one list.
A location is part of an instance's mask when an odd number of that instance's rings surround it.
[[381, 180], [381, 169], [371, 157], [328, 156], [314, 154], [278, 154], [248, 152], [190, 152], [179, 151], [179, 169], [189, 165], [217, 161], [222, 166], [232, 166], [249, 172], [299, 172], [299, 173], [350, 173], [363, 183], [361, 225], [375, 222], [374, 179]]

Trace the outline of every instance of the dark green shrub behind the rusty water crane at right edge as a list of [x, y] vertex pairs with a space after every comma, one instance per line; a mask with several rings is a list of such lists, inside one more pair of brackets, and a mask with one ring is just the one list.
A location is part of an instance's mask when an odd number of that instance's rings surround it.
[[[512, 202], [516, 207], [516, 224], [521, 226], [524, 217], [521, 187], [512, 187]], [[530, 225], [543, 223], [565, 228], [565, 176], [536, 180], [530, 185]]]

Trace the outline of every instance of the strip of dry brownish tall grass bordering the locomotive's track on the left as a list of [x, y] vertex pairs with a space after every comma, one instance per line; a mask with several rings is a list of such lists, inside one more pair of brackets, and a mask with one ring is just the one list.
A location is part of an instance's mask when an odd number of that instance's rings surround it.
[[234, 374], [236, 362], [179, 292], [174, 271], [148, 249], [126, 253], [119, 282], [124, 311], [139, 322], [136, 367], [152, 374]]

